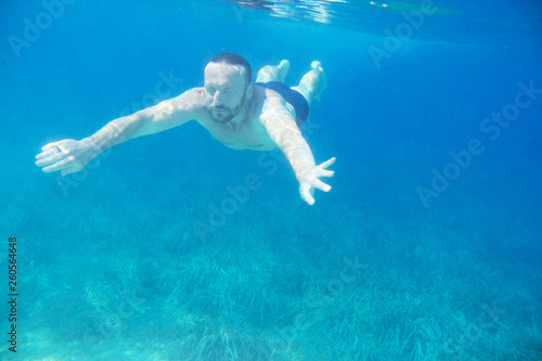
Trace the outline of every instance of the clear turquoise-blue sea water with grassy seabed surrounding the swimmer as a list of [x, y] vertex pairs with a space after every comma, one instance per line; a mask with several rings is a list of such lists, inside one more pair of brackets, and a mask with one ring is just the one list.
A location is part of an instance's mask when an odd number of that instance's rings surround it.
[[[2, 2], [1, 359], [540, 360], [541, 8]], [[195, 123], [64, 178], [34, 164], [223, 51], [288, 59], [288, 85], [322, 62], [304, 134], [337, 162], [314, 206], [280, 153]]]

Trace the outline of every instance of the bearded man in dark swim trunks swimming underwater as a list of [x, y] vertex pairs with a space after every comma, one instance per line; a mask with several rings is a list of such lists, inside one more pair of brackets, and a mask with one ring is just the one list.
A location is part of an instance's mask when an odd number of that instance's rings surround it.
[[177, 98], [108, 123], [80, 141], [66, 139], [49, 143], [36, 156], [44, 172], [62, 176], [81, 170], [106, 149], [129, 139], [164, 131], [196, 120], [219, 142], [235, 150], [271, 151], [279, 147], [294, 168], [301, 198], [314, 204], [314, 189], [328, 192], [320, 180], [333, 177], [327, 170], [335, 158], [317, 166], [298, 126], [309, 115], [313, 99], [325, 88], [319, 62], [312, 62], [299, 86], [289, 88], [284, 78], [289, 62], [267, 65], [251, 82], [248, 62], [233, 53], [214, 56], [205, 67], [204, 88], [194, 88]]

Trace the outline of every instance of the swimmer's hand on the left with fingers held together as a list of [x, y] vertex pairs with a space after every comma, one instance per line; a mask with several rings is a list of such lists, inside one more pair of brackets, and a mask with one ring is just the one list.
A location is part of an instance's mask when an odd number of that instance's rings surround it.
[[36, 165], [43, 167], [44, 172], [62, 170], [62, 176], [81, 170], [100, 153], [85, 139], [81, 141], [66, 139], [49, 143], [41, 150], [43, 152], [36, 156]]

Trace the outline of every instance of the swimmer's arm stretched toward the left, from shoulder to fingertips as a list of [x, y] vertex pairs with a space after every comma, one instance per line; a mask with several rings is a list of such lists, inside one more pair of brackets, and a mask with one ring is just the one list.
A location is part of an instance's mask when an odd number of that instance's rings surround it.
[[189, 90], [155, 106], [112, 120], [89, 138], [49, 143], [36, 156], [36, 165], [43, 167], [44, 172], [62, 170], [62, 176], [79, 171], [90, 159], [113, 145], [194, 119], [199, 103], [201, 95]]

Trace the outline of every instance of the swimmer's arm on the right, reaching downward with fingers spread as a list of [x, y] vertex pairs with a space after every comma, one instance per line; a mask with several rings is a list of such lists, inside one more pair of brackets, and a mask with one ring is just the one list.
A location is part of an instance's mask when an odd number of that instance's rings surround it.
[[333, 177], [334, 171], [326, 170], [335, 163], [335, 158], [317, 166], [312, 152], [302, 138], [294, 117], [286, 108], [284, 100], [270, 96], [263, 104], [260, 121], [266, 127], [269, 137], [282, 150], [289, 160], [296, 178], [299, 181], [299, 194], [309, 205], [314, 204], [314, 189], [330, 192], [332, 189], [320, 180], [321, 177]]

